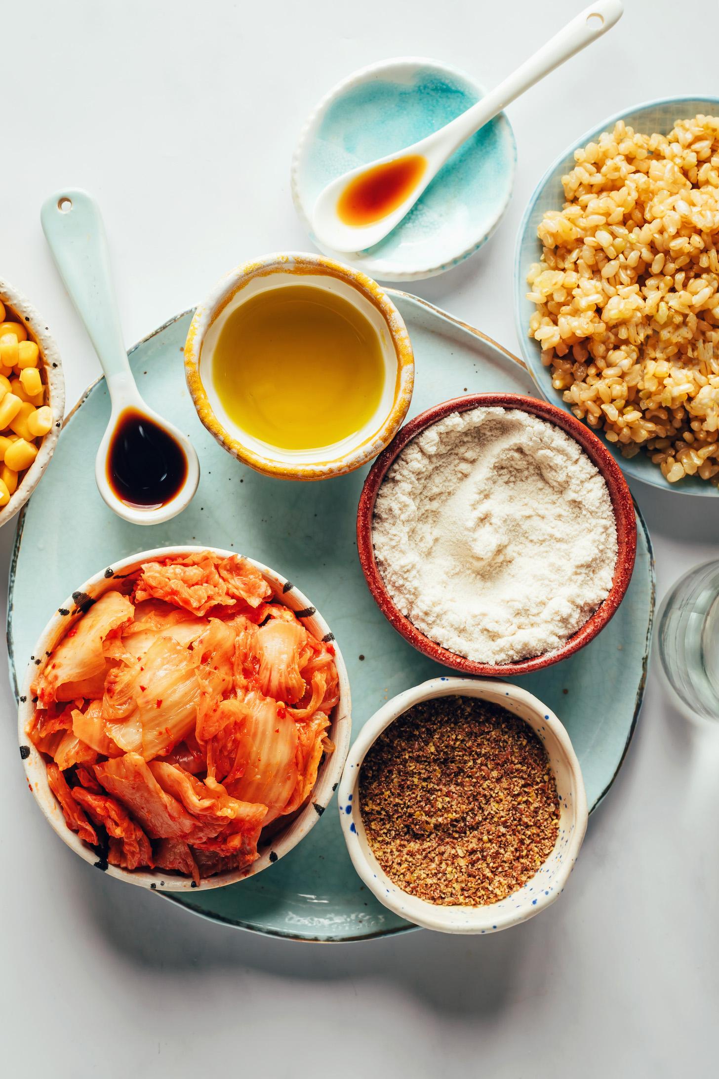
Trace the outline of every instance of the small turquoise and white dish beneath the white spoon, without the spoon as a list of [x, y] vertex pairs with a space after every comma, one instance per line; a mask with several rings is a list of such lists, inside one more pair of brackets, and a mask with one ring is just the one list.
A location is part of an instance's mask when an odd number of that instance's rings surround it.
[[450, 158], [407, 217], [374, 247], [340, 257], [317, 242], [310, 217], [331, 180], [419, 141], [484, 94], [461, 71], [419, 57], [382, 60], [335, 86], [309, 118], [291, 167], [295, 207], [320, 250], [382, 281], [419, 281], [481, 247], [514, 182], [516, 145], [504, 113]]

